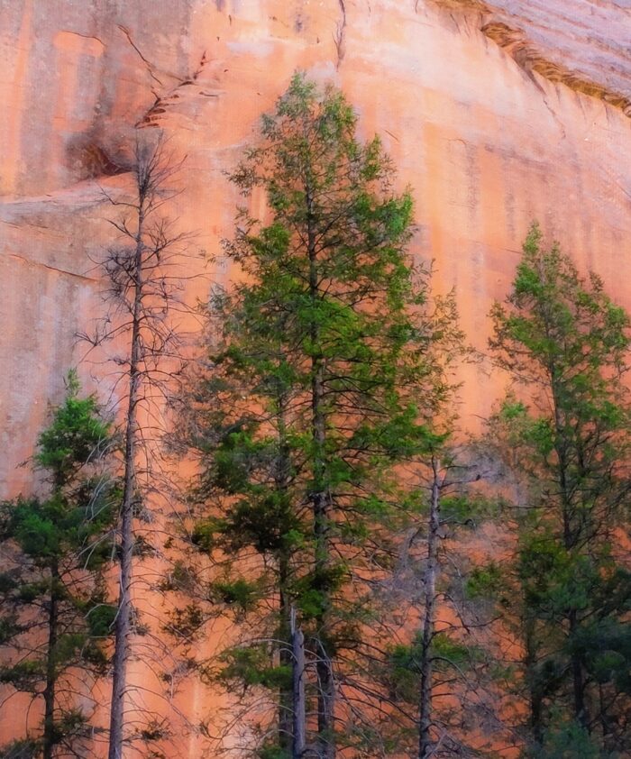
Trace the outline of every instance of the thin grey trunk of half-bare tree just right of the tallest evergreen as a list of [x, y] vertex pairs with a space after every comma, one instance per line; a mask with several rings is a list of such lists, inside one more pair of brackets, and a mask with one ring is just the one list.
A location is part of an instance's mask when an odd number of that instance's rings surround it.
[[432, 495], [429, 507], [429, 529], [427, 531], [427, 565], [425, 567], [425, 620], [421, 639], [421, 687], [418, 700], [418, 759], [432, 755], [432, 655], [434, 638], [436, 575], [438, 573], [438, 541], [440, 529], [440, 464], [432, 456]]

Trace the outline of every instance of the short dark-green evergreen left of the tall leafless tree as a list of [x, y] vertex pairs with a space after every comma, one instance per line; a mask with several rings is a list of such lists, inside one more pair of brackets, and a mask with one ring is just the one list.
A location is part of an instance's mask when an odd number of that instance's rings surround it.
[[3, 755], [52, 759], [88, 755], [93, 745], [78, 696], [105, 674], [114, 622], [102, 574], [111, 558], [111, 451], [109, 422], [70, 373], [34, 456], [50, 495], [0, 505], [0, 682], [32, 694], [43, 712], [41, 730]]

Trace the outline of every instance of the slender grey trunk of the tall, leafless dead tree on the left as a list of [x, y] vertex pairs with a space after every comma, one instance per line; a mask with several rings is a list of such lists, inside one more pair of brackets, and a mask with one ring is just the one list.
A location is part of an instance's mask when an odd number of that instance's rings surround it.
[[129, 365], [129, 398], [125, 416], [123, 502], [120, 514], [120, 595], [114, 626], [114, 663], [108, 759], [123, 759], [124, 700], [127, 689], [127, 660], [132, 627], [133, 502], [136, 491], [136, 434], [142, 361], [142, 242], [144, 201], [140, 198], [134, 262], [132, 343]]

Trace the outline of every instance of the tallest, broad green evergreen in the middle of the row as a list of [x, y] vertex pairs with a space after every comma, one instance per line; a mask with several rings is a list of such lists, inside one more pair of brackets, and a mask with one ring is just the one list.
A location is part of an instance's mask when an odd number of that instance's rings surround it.
[[[302, 75], [263, 117], [232, 179], [245, 197], [265, 192], [268, 220], [242, 209], [225, 245], [243, 279], [211, 303], [192, 403], [208, 515], [193, 541], [225, 567], [198, 590], [261, 631], [224, 652], [220, 677], [278, 694], [259, 755], [385, 751], [375, 726], [387, 697], [367, 674], [384, 653], [372, 590], [395, 556], [393, 467], [444, 393], [427, 274], [406, 251], [411, 197], [393, 191], [379, 140], [358, 142], [356, 123], [341, 93]], [[305, 681], [315, 717], [302, 746]]]

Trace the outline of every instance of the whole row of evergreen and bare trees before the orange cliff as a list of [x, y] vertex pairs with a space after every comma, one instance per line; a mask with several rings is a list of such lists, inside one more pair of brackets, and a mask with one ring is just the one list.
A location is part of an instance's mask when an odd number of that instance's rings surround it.
[[[240, 209], [224, 243], [240, 277], [202, 307], [187, 370], [163, 143], [137, 149], [133, 201], [109, 197], [127, 215], [103, 264], [115, 308], [92, 341], [126, 346], [126, 407], [114, 425], [71, 375], [34, 456], [50, 495], [2, 505], [0, 681], [42, 714], [5, 757], [94, 755], [104, 740], [120, 759], [137, 738], [166, 755], [159, 724], [132, 725], [126, 675], [144, 626], [133, 581], [167, 493], [166, 393], [169, 450], [197, 474], [172, 505], [172, 563], [147, 589], [169, 611], [145, 647], [169, 640], [171, 687], [185, 672], [222, 694], [189, 726], [208, 755], [629, 751], [628, 317], [533, 227], [491, 314], [489, 350], [514, 385], [465, 444], [455, 376], [474, 356], [454, 295], [433, 295], [412, 260], [411, 197], [356, 123], [302, 75], [263, 117], [231, 179], [246, 203], [265, 194], [266, 217]], [[501, 550], [473, 561], [471, 535], [496, 523]], [[86, 704], [110, 674], [107, 730]]]

